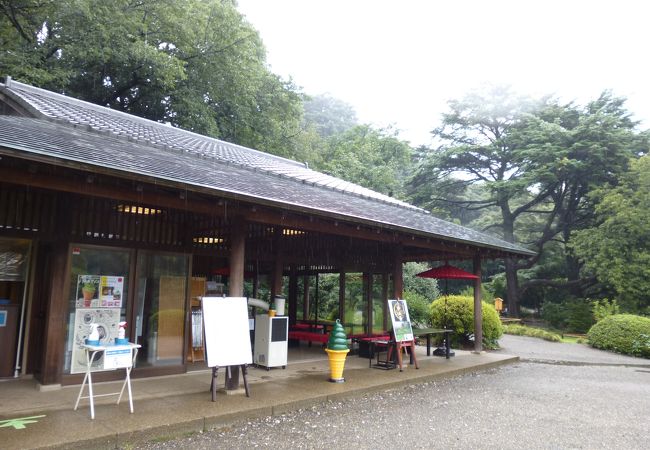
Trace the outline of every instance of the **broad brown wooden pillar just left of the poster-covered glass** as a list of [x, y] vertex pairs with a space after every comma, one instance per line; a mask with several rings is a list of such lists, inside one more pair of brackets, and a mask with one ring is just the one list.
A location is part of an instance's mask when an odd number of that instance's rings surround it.
[[65, 241], [52, 246], [51, 276], [47, 317], [45, 319], [45, 339], [41, 384], [61, 384], [63, 373], [63, 351], [65, 347], [65, 324], [68, 321], [67, 262], [68, 244]]

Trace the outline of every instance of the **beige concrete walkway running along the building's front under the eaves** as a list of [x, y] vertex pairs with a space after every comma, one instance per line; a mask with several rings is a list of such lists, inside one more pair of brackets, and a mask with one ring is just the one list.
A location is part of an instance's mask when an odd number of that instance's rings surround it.
[[[276, 416], [328, 400], [444, 379], [517, 360], [502, 353], [476, 355], [463, 351], [445, 360], [427, 357], [425, 348], [418, 347], [420, 369], [409, 366], [400, 372], [369, 369], [367, 359], [349, 356], [346, 382], [335, 384], [327, 381], [328, 362], [324, 353], [313, 350], [312, 359], [305, 355], [301, 362], [290, 359], [286, 370], [252, 368], [250, 398], [220, 392], [213, 403], [208, 392], [208, 370], [139, 379], [133, 381], [134, 414], [129, 414], [124, 399], [116, 406], [114, 398], [105, 397], [96, 402], [95, 420], [90, 419], [87, 402], [79, 410], [72, 410], [79, 386], [39, 392], [31, 380], [0, 382], [0, 448], [122, 448], [161, 436], [196, 433], [241, 419]], [[223, 383], [223, 375], [219, 382]], [[118, 385], [99, 383], [95, 385], [96, 392], [114, 392]], [[7, 422], [17, 418], [28, 418], [24, 428], [20, 422], [13, 422], [18, 426]]]

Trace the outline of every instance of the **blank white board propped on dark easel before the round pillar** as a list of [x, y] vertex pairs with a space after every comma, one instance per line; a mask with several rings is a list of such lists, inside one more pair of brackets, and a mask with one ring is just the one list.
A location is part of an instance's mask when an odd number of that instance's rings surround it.
[[203, 330], [208, 367], [252, 364], [245, 297], [203, 297]]

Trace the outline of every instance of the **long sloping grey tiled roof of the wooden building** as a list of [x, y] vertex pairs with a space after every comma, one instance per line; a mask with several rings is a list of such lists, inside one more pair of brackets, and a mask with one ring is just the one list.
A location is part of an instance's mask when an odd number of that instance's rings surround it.
[[[53, 114], [57, 120], [0, 116], [0, 147], [26, 152], [32, 157], [57, 158], [118, 173], [155, 177], [229, 193], [254, 202], [327, 214], [353, 222], [522, 255], [532, 254], [518, 245], [437, 219], [390, 197], [378, 193], [359, 195], [350, 192], [348, 185], [355, 185], [333, 177], [327, 177], [328, 182], [340, 182], [344, 188], [325, 188], [322, 186], [324, 178], [319, 177], [326, 176], [293, 161], [95, 105], [88, 106], [85, 102], [70, 101], [65, 97], [63, 99], [66, 101], [63, 101], [62, 96], [47, 91], [26, 93], [23, 86], [20, 85], [20, 95], [14, 98], [21, 101], [29, 98], [32, 108], [38, 109], [41, 114], [49, 111], [47, 114]], [[13, 87], [10, 90], [14, 92]], [[56, 114], [51, 110], [56, 110]], [[71, 118], [65, 119], [66, 114]], [[91, 124], [91, 121], [94, 122]], [[110, 129], [110, 133], [97, 132], [104, 130], [102, 127]], [[123, 131], [119, 133], [118, 129]], [[132, 133], [136, 133], [136, 130], [146, 138], [140, 138], [140, 135], [134, 137]], [[127, 142], [128, 145], [125, 145]], [[165, 144], [154, 145], [161, 142]], [[182, 143], [187, 144], [187, 148]], [[319, 182], [309, 180], [308, 174]]]

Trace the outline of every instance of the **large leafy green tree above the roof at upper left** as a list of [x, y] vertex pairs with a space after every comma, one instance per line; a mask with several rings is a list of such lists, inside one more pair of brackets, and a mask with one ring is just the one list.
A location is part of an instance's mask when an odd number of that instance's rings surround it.
[[2, 0], [3, 74], [283, 156], [301, 93], [229, 0]]

